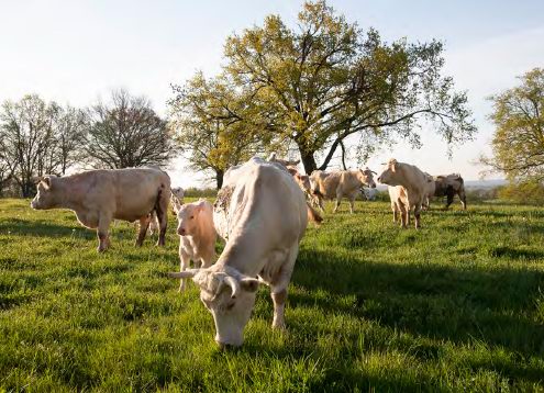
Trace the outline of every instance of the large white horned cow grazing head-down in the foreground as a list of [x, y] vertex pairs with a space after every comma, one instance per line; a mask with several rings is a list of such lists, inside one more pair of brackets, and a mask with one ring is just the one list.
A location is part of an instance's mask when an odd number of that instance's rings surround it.
[[[213, 220], [226, 245], [207, 269], [170, 273], [200, 287], [200, 299], [213, 315], [215, 341], [240, 346], [255, 304], [258, 282], [270, 287], [273, 327], [282, 328], [284, 307], [299, 243], [308, 224], [304, 194], [287, 170], [252, 158], [225, 173]], [[258, 277], [258, 280], [256, 279]]]

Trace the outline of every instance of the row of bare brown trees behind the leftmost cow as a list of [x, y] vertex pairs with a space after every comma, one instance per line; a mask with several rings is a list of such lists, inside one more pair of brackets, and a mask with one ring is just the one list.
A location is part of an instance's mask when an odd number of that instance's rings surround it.
[[167, 121], [124, 90], [87, 109], [35, 94], [0, 108], [0, 196], [29, 198], [37, 177], [69, 169], [164, 166], [177, 155]]

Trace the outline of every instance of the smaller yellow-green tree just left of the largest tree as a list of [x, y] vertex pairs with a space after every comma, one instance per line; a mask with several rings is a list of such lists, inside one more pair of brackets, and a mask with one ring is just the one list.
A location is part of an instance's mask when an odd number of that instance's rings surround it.
[[201, 72], [173, 88], [169, 106], [177, 142], [189, 154], [190, 168], [213, 172], [220, 189], [226, 169], [259, 151], [257, 126], [244, 122], [246, 98], [224, 76], [207, 80]]

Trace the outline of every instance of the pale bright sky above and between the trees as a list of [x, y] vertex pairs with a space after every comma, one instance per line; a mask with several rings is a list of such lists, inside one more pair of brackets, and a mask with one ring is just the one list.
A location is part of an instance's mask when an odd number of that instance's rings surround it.
[[[217, 74], [223, 44], [233, 33], [262, 24], [270, 13], [295, 25], [299, 0], [0, 0], [0, 102], [37, 93], [46, 100], [87, 106], [125, 88], [151, 99], [165, 115], [170, 83], [202, 70]], [[386, 41], [433, 38], [445, 44], [444, 75], [466, 90], [478, 134], [453, 149], [424, 126], [423, 146], [400, 142], [366, 162], [379, 171], [390, 157], [433, 173], [479, 178], [474, 165], [490, 153], [493, 127], [487, 98], [544, 67], [544, 1], [335, 0], [337, 12], [359, 27], [377, 29]], [[336, 167], [338, 161], [333, 162]], [[349, 161], [356, 166], [356, 159]], [[206, 177], [175, 160], [173, 184], [204, 184]], [[331, 168], [331, 169], [332, 169]], [[500, 178], [500, 175], [491, 176]]]

